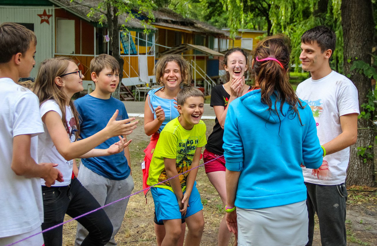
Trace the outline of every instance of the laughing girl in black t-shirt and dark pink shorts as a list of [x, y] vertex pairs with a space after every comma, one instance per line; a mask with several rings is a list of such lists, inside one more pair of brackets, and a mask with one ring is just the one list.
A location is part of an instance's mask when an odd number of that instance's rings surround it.
[[[227, 71], [227, 83], [224, 85], [216, 85], [211, 92], [211, 107], [215, 110], [216, 119], [215, 126], [211, 135], [208, 137], [207, 145], [203, 153], [204, 162], [213, 160], [224, 154], [222, 145], [224, 141], [224, 122], [227, 115], [227, 105], [237, 97], [245, 94], [250, 86], [245, 85], [244, 73], [247, 70], [247, 55], [240, 48], [230, 49], [223, 60], [225, 71]], [[225, 206], [227, 197], [225, 190], [225, 159], [220, 157], [205, 165], [205, 172], [212, 185], [219, 193], [222, 203]], [[218, 235], [218, 245], [228, 245], [231, 232], [229, 232], [225, 223], [225, 216], [221, 220]], [[234, 240], [237, 245], [237, 238]]]

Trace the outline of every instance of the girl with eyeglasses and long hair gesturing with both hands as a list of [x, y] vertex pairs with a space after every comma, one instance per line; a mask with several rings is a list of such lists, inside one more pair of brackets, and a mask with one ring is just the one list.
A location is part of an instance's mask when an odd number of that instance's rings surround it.
[[[80, 132], [79, 116], [71, 98], [76, 92], [83, 91], [83, 78], [74, 60], [68, 57], [44, 60], [38, 69], [34, 92], [40, 101], [44, 127], [44, 133], [38, 135], [38, 158], [41, 162], [57, 163], [64, 178], [63, 182], [51, 187], [41, 181], [44, 211], [42, 230], [62, 223], [65, 214], [77, 217], [100, 207], [80, 181], [71, 178], [72, 170], [77, 170], [74, 158], [119, 153], [130, 143], [125, 143], [126, 138], [120, 135], [128, 135], [136, 128], [137, 122], [129, 123], [135, 118], [116, 121], [116, 111], [106, 128], [76, 141]], [[108, 149], [93, 149], [114, 136], [119, 136], [120, 141]], [[113, 227], [103, 209], [78, 218], [77, 221], [89, 231], [82, 246], [105, 245], [110, 240]], [[60, 246], [62, 237], [63, 226], [43, 233], [46, 246]]]

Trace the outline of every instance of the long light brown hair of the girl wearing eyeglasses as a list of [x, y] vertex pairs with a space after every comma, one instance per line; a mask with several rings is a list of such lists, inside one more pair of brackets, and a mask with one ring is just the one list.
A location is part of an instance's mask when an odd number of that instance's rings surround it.
[[63, 121], [63, 125], [67, 132], [69, 127], [66, 120], [66, 105], [71, 107], [77, 123], [76, 128], [78, 131], [75, 132], [76, 141], [78, 135], [80, 134], [78, 112], [71, 98], [68, 98], [61, 86], [58, 86], [55, 83], [56, 77], [66, 73], [66, 69], [70, 61], [75, 63], [75, 61], [71, 58], [64, 56], [54, 57], [42, 61], [38, 69], [37, 78], [35, 80], [35, 88], [33, 91], [38, 96], [40, 105], [47, 100], [56, 101], [62, 112], [61, 121]]

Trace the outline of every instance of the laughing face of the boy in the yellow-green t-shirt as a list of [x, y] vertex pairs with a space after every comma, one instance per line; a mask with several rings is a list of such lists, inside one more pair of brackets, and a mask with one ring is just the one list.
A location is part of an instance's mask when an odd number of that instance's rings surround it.
[[178, 112], [181, 116], [178, 118], [181, 126], [186, 130], [191, 130], [194, 125], [198, 124], [204, 112], [203, 97], [189, 97], [183, 105], [178, 105]]

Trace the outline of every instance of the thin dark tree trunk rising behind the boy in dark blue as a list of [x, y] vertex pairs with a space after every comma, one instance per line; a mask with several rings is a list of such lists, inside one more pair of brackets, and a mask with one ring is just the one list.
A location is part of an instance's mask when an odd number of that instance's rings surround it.
[[[111, 11], [112, 10], [112, 11]], [[119, 84], [116, 90], [112, 93], [112, 96], [120, 99], [120, 86], [121, 81], [123, 78], [123, 65], [124, 60], [120, 56], [119, 53], [119, 26], [118, 26], [118, 16], [116, 13], [118, 12], [118, 9], [116, 7], [112, 7], [110, 3], [107, 3], [107, 11], [106, 11], [106, 19], [107, 19], [107, 25], [109, 28], [109, 35], [110, 35], [110, 46], [112, 49], [112, 56], [115, 57], [115, 59], [119, 62]]]

